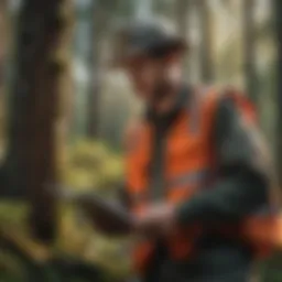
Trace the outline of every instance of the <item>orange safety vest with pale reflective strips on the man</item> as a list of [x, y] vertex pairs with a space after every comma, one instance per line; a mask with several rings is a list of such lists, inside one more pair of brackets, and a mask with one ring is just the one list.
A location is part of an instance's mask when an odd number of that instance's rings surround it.
[[[208, 187], [208, 184], [218, 177], [215, 174], [216, 160], [213, 154], [212, 131], [220, 96], [217, 90], [212, 88], [195, 90], [189, 107], [181, 112], [177, 121], [169, 131], [164, 166], [167, 183], [164, 200], [169, 204], [176, 205], [187, 200], [197, 191]], [[254, 122], [256, 115], [251, 104], [240, 95], [231, 94], [231, 96], [247, 120]], [[132, 202], [132, 212], [138, 214], [145, 212], [145, 208], [153, 204], [150, 203], [148, 193], [152, 128], [149, 123], [143, 122], [135, 133], [126, 161], [128, 193]], [[241, 237], [259, 247], [258, 251], [264, 252], [275, 232], [274, 220], [275, 217], [270, 215], [262, 217], [254, 215], [246, 219], [240, 227], [230, 230], [226, 228], [223, 232]], [[265, 230], [272, 231], [265, 234]], [[174, 230], [166, 239], [167, 250], [172, 258], [184, 259], [193, 256], [196, 251], [194, 241], [200, 232], [199, 226], [180, 227], [178, 230]], [[138, 243], [133, 253], [137, 271], [142, 273], [147, 269], [155, 245], [151, 240], [144, 239]]]

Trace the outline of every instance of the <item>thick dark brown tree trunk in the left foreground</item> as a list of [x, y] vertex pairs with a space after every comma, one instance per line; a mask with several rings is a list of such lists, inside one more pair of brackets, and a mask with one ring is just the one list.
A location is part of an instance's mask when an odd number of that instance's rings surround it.
[[8, 194], [28, 196], [32, 231], [45, 242], [55, 235], [56, 199], [48, 185], [57, 181], [58, 82], [64, 65], [56, 51], [65, 26], [64, 1], [23, 1], [10, 95]]

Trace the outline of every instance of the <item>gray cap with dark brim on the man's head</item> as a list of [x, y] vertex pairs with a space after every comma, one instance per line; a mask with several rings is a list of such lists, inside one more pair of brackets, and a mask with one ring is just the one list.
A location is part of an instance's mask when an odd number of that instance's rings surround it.
[[118, 29], [115, 53], [119, 62], [124, 57], [147, 54], [162, 56], [172, 50], [185, 50], [185, 40], [162, 21], [134, 21]]

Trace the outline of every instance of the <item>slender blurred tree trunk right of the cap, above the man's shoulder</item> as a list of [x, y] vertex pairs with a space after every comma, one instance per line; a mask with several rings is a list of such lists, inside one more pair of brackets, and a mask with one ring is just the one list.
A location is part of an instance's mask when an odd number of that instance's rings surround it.
[[200, 43], [200, 73], [203, 83], [210, 83], [214, 79], [214, 62], [213, 62], [213, 23], [212, 14], [208, 7], [208, 0], [197, 0], [196, 1], [200, 32], [202, 32], [202, 43]]

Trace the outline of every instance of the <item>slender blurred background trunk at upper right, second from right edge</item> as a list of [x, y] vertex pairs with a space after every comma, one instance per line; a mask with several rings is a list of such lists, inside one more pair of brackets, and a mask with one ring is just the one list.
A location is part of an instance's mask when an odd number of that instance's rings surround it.
[[246, 90], [249, 97], [258, 102], [257, 72], [256, 72], [256, 23], [254, 23], [254, 0], [243, 1], [243, 67]]

